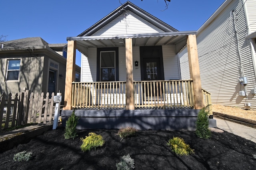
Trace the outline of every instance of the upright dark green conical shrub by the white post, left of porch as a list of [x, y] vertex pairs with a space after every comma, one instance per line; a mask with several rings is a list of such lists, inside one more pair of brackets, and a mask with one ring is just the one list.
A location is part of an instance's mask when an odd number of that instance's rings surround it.
[[65, 139], [72, 138], [74, 140], [74, 138], [77, 136], [76, 135], [77, 123], [78, 123], [78, 117], [75, 115], [75, 110], [74, 110], [71, 116], [66, 121], [66, 127], [65, 127], [65, 133], [64, 133]]

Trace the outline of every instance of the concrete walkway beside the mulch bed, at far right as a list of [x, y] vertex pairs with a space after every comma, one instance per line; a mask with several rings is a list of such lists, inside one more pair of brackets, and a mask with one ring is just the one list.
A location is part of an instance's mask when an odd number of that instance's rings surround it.
[[234, 123], [232, 121], [220, 119], [214, 117], [216, 119], [217, 127], [229, 133], [233, 133], [234, 135], [238, 135], [245, 139], [248, 139], [254, 143], [256, 143], [256, 129], [252, 127], [248, 127], [245, 125], [241, 125], [239, 123]]

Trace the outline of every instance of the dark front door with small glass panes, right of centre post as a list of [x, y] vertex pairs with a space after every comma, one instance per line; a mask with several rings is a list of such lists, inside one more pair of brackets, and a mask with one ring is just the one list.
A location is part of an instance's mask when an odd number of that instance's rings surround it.
[[[164, 80], [162, 46], [140, 47], [140, 61], [142, 81]], [[154, 98], [162, 96], [162, 91], [159, 82], [150, 82], [144, 90], [146, 97]]]

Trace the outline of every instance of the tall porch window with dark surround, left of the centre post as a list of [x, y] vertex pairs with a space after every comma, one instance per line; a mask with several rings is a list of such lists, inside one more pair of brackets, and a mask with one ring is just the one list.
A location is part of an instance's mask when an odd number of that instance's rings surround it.
[[97, 81], [118, 81], [118, 48], [97, 51]]

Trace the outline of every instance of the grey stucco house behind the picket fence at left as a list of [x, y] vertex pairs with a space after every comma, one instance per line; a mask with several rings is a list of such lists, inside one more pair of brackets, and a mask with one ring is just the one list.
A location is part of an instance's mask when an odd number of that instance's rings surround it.
[[[66, 76], [67, 44], [48, 44], [40, 37], [0, 43], [0, 93], [16, 94], [24, 88], [30, 92], [62, 92]], [[80, 67], [75, 66], [80, 73]], [[50, 95], [51, 96], [51, 95]]]

